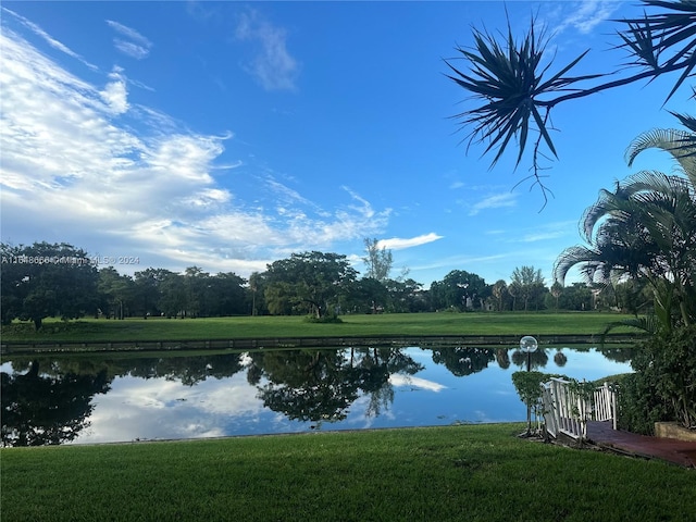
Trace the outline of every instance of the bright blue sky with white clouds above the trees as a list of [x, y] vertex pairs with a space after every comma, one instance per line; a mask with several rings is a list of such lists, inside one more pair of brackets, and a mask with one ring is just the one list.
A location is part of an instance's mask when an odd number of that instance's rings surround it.
[[[248, 277], [291, 252], [346, 254], [377, 238], [427, 288], [451, 270], [493, 284], [515, 266], [551, 284], [556, 257], [599, 189], [638, 169], [639, 133], [673, 127], [672, 78], [555, 110], [559, 160], [544, 198], [514, 169], [467, 150], [450, 116], [472, 107], [444, 59], [506, 4], [463, 2], [3, 2], [2, 240], [65, 241], [92, 256]], [[507, 3], [537, 22], [561, 66], [613, 71], [612, 17], [635, 2]]]

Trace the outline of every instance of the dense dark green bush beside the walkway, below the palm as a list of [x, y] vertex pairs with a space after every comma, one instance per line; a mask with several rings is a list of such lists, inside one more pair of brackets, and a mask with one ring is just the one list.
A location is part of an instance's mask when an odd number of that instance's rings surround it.
[[619, 394], [619, 423], [650, 434], [657, 421], [696, 426], [696, 326], [655, 335], [636, 350]]

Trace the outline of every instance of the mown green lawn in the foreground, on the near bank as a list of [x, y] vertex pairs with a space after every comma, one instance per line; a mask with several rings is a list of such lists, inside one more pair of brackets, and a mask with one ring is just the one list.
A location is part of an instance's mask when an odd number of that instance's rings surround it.
[[3, 520], [689, 520], [696, 473], [522, 425], [2, 449]]

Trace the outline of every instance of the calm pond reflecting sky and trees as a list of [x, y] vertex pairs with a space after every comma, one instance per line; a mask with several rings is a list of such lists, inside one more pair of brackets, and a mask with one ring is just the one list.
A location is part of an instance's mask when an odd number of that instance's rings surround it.
[[[588, 381], [627, 348], [540, 348], [532, 368]], [[514, 348], [263, 349], [176, 357], [8, 357], [2, 445], [94, 444], [523, 421]]]

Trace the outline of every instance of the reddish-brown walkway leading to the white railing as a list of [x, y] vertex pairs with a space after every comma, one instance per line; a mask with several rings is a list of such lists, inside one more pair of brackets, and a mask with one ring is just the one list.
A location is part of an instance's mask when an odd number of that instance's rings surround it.
[[684, 468], [696, 469], [696, 443], [612, 430], [611, 421], [589, 421], [587, 438], [592, 444], [618, 453], [660, 459]]

